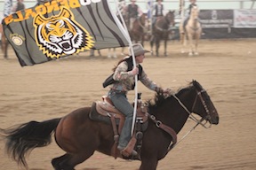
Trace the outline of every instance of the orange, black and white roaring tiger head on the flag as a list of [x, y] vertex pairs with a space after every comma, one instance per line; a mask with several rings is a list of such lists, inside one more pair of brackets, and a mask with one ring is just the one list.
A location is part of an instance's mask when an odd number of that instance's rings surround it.
[[49, 58], [60, 58], [93, 47], [92, 36], [76, 22], [73, 13], [63, 7], [59, 15], [34, 19], [36, 43]]

